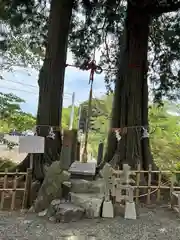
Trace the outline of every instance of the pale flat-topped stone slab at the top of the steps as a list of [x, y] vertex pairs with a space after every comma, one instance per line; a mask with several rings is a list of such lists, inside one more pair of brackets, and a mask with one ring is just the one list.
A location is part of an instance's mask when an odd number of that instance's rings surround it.
[[73, 162], [69, 168], [69, 172], [74, 175], [94, 176], [96, 173], [96, 162]]

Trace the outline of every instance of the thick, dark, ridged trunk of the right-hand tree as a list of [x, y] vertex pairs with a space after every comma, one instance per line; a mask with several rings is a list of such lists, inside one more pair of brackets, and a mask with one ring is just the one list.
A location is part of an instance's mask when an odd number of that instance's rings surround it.
[[[118, 144], [109, 134], [105, 161], [112, 164], [138, 163], [147, 169], [153, 163], [149, 139], [142, 138], [148, 126], [147, 52], [151, 16], [128, 3], [125, 22], [125, 48], [117, 74], [111, 128], [121, 128]], [[126, 128], [127, 127], [127, 128]], [[113, 140], [112, 140], [113, 139]], [[118, 154], [118, 158], [113, 156]]]

